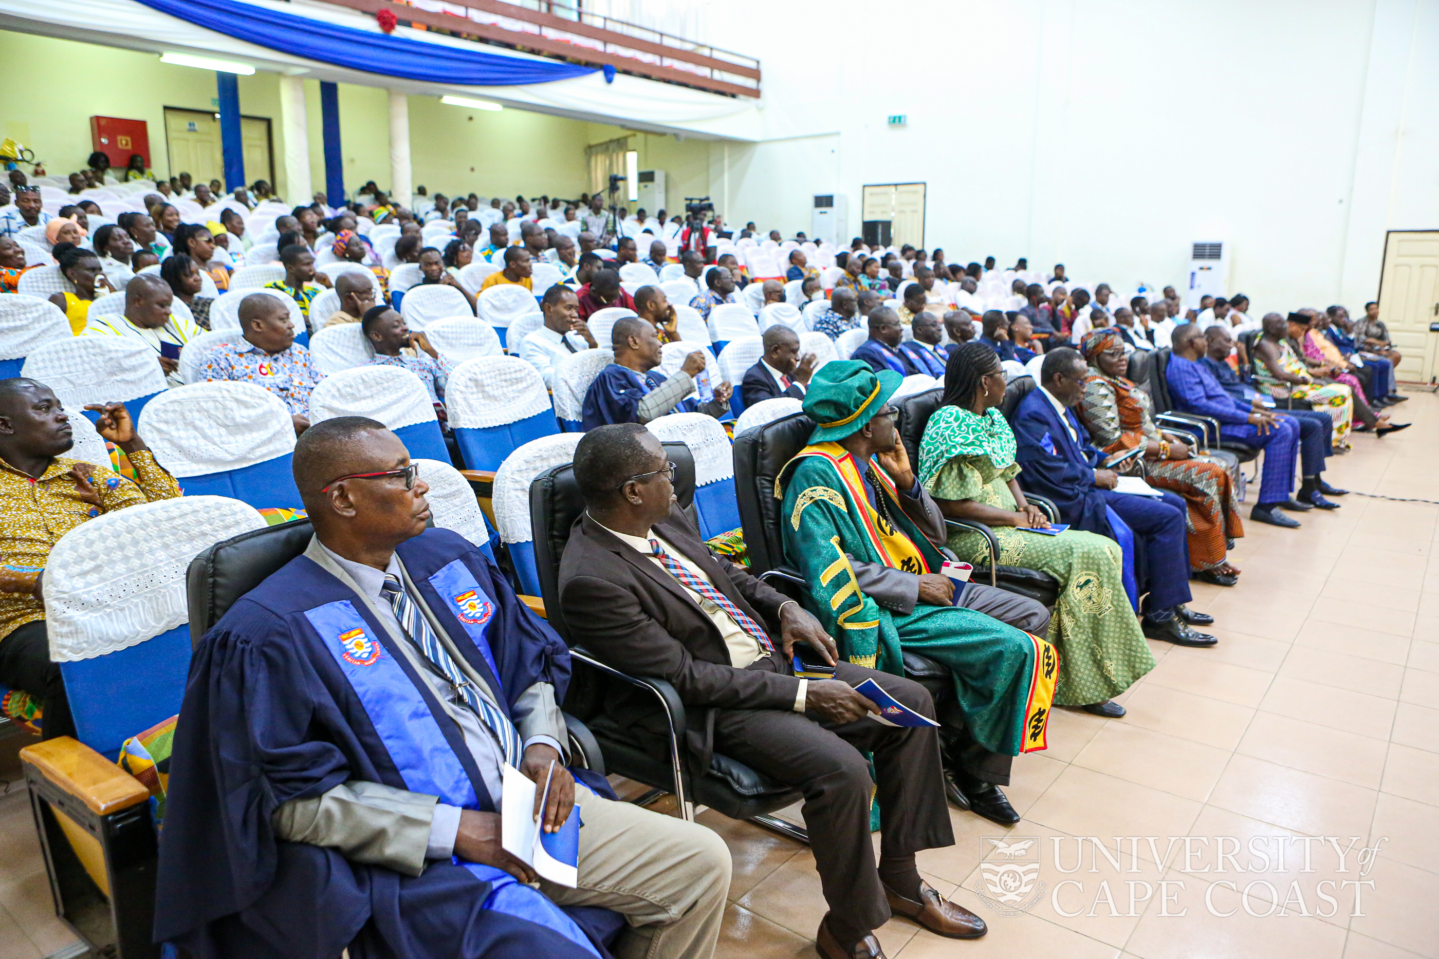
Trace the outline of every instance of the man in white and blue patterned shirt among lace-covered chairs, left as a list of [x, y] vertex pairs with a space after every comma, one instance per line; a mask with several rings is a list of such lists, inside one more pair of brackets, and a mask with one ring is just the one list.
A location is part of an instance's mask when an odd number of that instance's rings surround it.
[[240, 300], [240, 342], [220, 344], [204, 359], [206, 380], [237, 380], [265, 387], [285, 401], [295, 433], [309, 427], [309, 393], [325, 374], [295, 342], [289, 309], [269, 293]]

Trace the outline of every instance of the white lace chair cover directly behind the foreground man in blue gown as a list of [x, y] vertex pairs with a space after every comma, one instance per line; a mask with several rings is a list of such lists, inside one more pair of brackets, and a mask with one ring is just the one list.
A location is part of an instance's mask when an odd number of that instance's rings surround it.
[[105, 513], [65, 533], [45, 564], [50, 660], [95, 659], [183, 625], [190, 561], [262, 526], [265, 518], [237, 499], [183, 496]]

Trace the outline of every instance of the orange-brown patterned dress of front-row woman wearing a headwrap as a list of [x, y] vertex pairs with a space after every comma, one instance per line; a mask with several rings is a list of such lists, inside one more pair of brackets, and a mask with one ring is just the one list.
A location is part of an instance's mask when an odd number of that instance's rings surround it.
[[[1108, 378], [1089, 367], [1079, 417], [1091, 440], [1105, 453], [1132, 450], [1163, 440], [1154, 427], [1148, 394], [1122, 377]], [[1150, 486], [1167, 489], [1189, 505], [1189, 565], [1216, 569], [1225, 564], [1225, 538], [1245, 535], [1239, 493], [1223, 462], [1203, 454], [1187, 460], [1145, 460]]]

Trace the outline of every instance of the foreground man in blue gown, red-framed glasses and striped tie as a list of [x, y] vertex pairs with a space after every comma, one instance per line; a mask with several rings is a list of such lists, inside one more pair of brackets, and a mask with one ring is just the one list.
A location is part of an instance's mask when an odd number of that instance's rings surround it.
[[[564, 768], [568, 651], [479, 549], [426, 529], [400, 439], [325, 420], [294, 472], [309, 546], [194, 653], [155, 935], [235, 959], [581, 959], [602, 950], [576, 907], [597, 906], [629, 920], [620, 955], [707, 959], [724, 843]], [[504, 850], [514, 772], [550, 784], [547, 832], [583, 815], [576, 887]]]

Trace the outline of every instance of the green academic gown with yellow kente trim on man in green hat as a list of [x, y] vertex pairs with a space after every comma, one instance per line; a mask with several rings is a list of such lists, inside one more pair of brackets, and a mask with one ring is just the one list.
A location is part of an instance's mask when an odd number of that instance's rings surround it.
[[944, 663], [976, 740], [990, 752], [1045, 749], [1059, 657], [1048, 641], [963, 607], [917, 604], [908, 615], [859, 589], [849, 556], [894, 569], [938, 571], [943, 554], [899, 508], [894, 482], [871, 460], [872, 508], [859, 464], [837, 443], [806, 446], [780, 472], [786, 561], [809, 589], [804, 605], [850, 663], [904, 676], [902, 650]]

